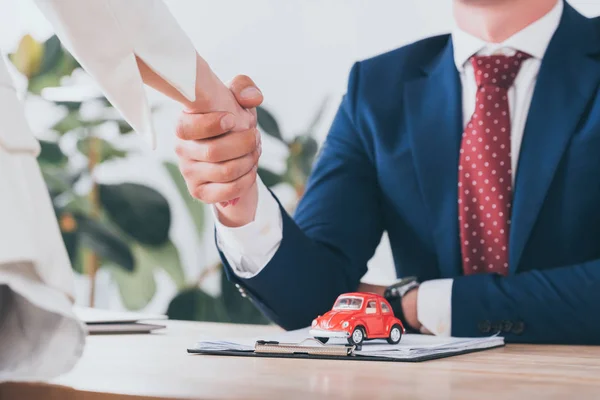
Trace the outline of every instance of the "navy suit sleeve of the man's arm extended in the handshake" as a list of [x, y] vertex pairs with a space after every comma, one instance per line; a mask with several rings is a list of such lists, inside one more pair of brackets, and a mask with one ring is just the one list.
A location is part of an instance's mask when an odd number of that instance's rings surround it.
[[281, 209], [283, 239], [271, 261], [249, 279], [226, 269], [286, 329], [310, 325], [337, 295], [355, 290], [381, 239], [376, 171], [355, 129], [358, 80], [356, 64], [295, 221]]

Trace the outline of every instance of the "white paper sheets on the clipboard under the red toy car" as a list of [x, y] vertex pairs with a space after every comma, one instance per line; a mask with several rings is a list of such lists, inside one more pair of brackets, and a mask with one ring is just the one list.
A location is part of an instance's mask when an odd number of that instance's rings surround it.
[[[189, 349], [192, 353], [202, 352], [252, 352], [257, 340], [276, 341], [279, 343], [299, 344], [311, 338], [309, 328], [284, 332], [274, 335], [265, 335], [253, 338], [238, 338], [224, 340], [203, 340], [197, 342]], [[312, 344], [311, 344], [312, 343]], [[331, 339], [326, 346], [343, 346], [347, 342], [343, 339]], [[306, 341], [305, 345], [321, 346], [316, 341]], [[366, 341], [355, 355], [361, 357], [377, 357], [397, 360], [432, 359], [445, 356], [462, 354], [475, 350], [483, 350], [504, 345], [501, 336], [484, 338], [455, 338], [437, 337], [430, 335], [405, 334], [398, 344], [388, 344], [385, 340]]]

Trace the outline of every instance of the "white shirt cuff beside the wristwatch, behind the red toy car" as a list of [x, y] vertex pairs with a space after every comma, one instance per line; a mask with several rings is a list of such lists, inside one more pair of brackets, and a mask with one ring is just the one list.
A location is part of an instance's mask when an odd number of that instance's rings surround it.
[[436, 279], [419, 286], [419, 322], [437, 336], [450, 336], [452, 332], [452, 283], [452, 279]]

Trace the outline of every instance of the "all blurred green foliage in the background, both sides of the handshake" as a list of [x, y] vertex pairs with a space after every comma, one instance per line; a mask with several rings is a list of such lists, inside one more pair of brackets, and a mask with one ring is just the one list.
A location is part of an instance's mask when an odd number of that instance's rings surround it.
[[[80, 68], [56, 36], [40, 43], [26, 35], [9, 58], [28, 79], [29, 96], [40, 96], [45, 88], [61, 86], [63, 78]], [[96, 100], [107, 109], [111, 107], [105, 98]], [[94, 182], [95, 168], [128, 155], [127, 151], [98, 137], [97, 128], [105, 123], [116, 123], [120, 134], [126, 135], [132, 132], [129, 124], [118, 118], [83, 118], [81, 108], [85, 101], [80, 99], [54, 101], [54, 104], [63, 108], [65, 115], [51, 127], [56, 140], [40, 141], [38, 161], [73, 268], [87, 274], [95, 274], [97, 268], [106, 268], [119, 288], [123, 304], [131, 310], [142, 309], [152, 300], [156, 292], [155, 272], [160, 269], [178, 289], [178, 294], [168, 305], [170, 318], [268, 323], [252, 302], [240, 296], [237, 288], [226, 279], [220, 263], [207, 267], [195, 282], [186, 281], [179, 252], [169, 238], [171, 209], [161, 193], [134, 183], [108, 185]], [[289, 184], [298, 198], [302, 196], [318, 148], [313, 133], [324, 107], [325, 104], [304, 132], [289, 140], [285, 139], [269, 111], [263, 107], [257, 109], [262, 131], [288, 149], [283, 173], [259, 168], [259, 175], [268, 187]], [[63, 151], [61, 140], [67, 135], [76, 137], [75, 151]], [[81, 156], [87, 160], [83, 167], [81, 162], [74, 162], [75, 157]], [[166, 162], [164, 167], [202, 238], [205, 207], [190, 196], [175, 164]], [[82, 181], [91, 182], [90, 190], [83, 194], [74, 190], [74, 186]], [[86, 253], [97, 257], [96, 266], [84, 265], [89, 261], [84, 257]], [[203, 280], [212, 273], [221, 274], [218, 297], [200, 288]]]

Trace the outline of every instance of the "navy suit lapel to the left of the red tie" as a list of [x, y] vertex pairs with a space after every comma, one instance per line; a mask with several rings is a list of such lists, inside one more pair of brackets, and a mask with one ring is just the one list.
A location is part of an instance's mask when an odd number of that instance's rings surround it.
[[405, 83], [405, 120], [442, 276], [461, 273], [458, 234], [458, 154], [462, 136], [461, 83], [452, 42], [424, 76]]

